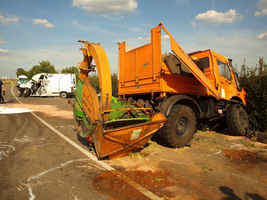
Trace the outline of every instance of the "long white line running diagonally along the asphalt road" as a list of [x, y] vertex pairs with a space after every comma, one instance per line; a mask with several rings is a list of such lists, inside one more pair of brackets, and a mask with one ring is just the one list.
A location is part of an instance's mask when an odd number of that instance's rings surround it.
[[[13, 93], [13, 88], [11, 88], [11, 92]], [[15, 96], [15, 95], [14, 95]], [[23, 104], [16, 96], [15, 96], [16, 100], [19, 101], [20, 104]], [[45, 122], [43, 119], [41, 119], [39, 116], [37, 116], [34, 112], [30, 112], [33, 116], [35, 116], [37, 119], [39, 119], [44, 125], [46, 125], [48, 128], [50, 128], [52, 131], [54, 131], [55, 133], [57, 133], [57, 135], [59, 135], [60, 137], [62, 137], [64, 140], [66, 140], [68, 143], [70, 143], [71, 145], [73, 145], [76, 149], [79, 149], [79, 151], [81, 151], [82, 153], [84, 153], [85, 155], [87, 155], [90, 159], [94, 160], [95, 162], [97, 162], [99, 165], [101, 165], [102, 167], [104, 167], [106, 170], [115, 170], [112, 166], [106, 164], [105, 162], [103, 162], [102, 160], [98, 160], [93, 154], [91, 154], [90, 152], [88, 152], [87, 150], [85, 150], [84, 148], [80, 147], [78, 144], [76, 144], [74, 141], [72, 141], [71, 139], [69, 139], [68, 137], [66, 137], [65, 135], [63, 135], [61, 132], [59, 132], [57, 129], [55, 129], [54, 127], [52, 127], [50, 124], [48, 124], [47, 122]], [[117, 170], [116, 170], [117, 171]], [[130, 184], [131, 186], [133, 186], [136, 190], [138, 190], [139, 192], [141, 192], [142, 194], [144, 194], [145, 196], [149, 197], [150, 199], [153, 200], [162, 200], [160, 197], [158, 197], [157, 195], [153, 194], [152, 192], [150, 192], [149, 190], [145, 189], [144, 187], [142, 187], [141, 185], [135, 183], [134, 181], [130, 180], [129, 178], [127, 178], [126, 176], [119, 174], [117, 175], [118, 177], [122, 177], [123, 179]], [[30, 188], [29, 188], [30, 190]]]

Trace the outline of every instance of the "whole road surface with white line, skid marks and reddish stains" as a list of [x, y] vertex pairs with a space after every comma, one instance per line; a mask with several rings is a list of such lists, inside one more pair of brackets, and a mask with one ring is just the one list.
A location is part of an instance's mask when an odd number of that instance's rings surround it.
[[264, 145], [204, 132], [191, 148], [172, 149], [155, 136], [130, 156], [97, 161], [77, 139], [66, 99], [5, 87], [1, 199], [267, 199]]

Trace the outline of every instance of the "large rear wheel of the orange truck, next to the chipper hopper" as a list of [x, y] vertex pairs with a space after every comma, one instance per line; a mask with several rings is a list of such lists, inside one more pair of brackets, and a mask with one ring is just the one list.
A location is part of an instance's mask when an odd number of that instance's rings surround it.
[[191, 108], [186, 105], [174, 105], [168, 121], [159, 129], [159, 135], [169, 146], [181, 148], [193, 138], [196, 124], [195, 113]]

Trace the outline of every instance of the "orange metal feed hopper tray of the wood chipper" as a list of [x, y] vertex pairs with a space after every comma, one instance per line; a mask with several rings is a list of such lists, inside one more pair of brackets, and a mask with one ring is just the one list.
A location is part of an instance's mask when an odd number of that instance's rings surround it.
[[[125, 119], [125, 121], [131, 119]], [[134, 149], [144, 148], [154, 133], [167, 121], [166, 117], [157, 113], [149, 122], [104, 130], [101, 123], [97, 124], [92, 138], [98, 158], [108, 156], [109, 159], [127, 156]], [[116, 120], [113, 120], [116, 122]], [[111, 122], [112, 123], [112, 122]]]

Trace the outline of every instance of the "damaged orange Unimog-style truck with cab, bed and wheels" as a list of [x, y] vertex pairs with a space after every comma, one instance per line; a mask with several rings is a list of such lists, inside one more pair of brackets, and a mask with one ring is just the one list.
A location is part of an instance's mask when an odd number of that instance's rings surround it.
[[162, 23], [151, 29], [149, 44], [118, 46], [119, 99], [166, 116], [159, 135], [168, 145], [188, 145], [198, 122], [224, 119], [233, 135], [252, 136], [231, 59], [211, 50], [187, 54]]

